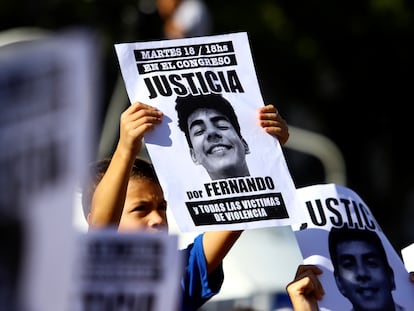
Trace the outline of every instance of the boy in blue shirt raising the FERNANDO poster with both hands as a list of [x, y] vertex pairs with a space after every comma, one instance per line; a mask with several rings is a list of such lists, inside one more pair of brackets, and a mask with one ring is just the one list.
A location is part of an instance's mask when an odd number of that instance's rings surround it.
[[[272, 105], [259, 110], [264, 130], [286, 142], [286, 122]], [[99, 162], [93, 185], [82, 203], [90, 228], [115, 226], [118, 231], [167, 231], [163, 189], [150, 163], [137, 159], [144, 134], [161, 126], [156, 108], [134, 103], [121, 115], [120, 138], [112, 160]], [[92, 204], [92, 206], [90, 206]], [[197, 236], [185, 250], [181, 310], [196, 310], [217, 294], [223, 282], [222, 260], [242, 231], [211, 231]]]

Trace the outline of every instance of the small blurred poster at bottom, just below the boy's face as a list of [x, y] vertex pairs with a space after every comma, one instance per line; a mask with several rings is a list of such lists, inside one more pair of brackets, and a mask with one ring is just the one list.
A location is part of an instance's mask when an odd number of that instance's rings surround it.
[[80, 233], [69, 310], [178, 310], [183, 262], [177, 241], [162, 233]]

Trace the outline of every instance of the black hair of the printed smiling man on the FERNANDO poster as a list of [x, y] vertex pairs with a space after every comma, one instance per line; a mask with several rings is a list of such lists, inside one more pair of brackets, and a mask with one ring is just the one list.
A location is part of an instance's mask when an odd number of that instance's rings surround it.
[[214, 109], [224, 114], [233, 125], [240, 138], [243, 138], [240, 131], [240, 124], [232, 105], [220, 94], [187, 95], [177, 97], [175, 110], [178, 116], [178, 127], [184, 132], [187, 143], [192, 147], [188, 132], [188, 117], [197, 109]]

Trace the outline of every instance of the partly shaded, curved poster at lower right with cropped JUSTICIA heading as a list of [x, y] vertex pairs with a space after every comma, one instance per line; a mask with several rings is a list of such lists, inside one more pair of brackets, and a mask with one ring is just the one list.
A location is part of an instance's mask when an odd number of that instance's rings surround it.
[[323, 270], [320, 310], [412, 310], [414, 286], [402, 259], [357, 193], [314, 185], [299, 188], [298, 200], [308, 220], [292, 227], [304, 264]]

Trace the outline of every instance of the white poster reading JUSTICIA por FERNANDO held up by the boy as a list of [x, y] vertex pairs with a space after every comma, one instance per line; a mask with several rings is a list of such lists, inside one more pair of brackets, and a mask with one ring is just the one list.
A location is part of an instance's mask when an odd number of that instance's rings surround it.
[[[302, 219], [292, 208], [295, 186], [280, 144], [258, 122], [264, 102], [247, 33], [120, 43], [115, 49], [130, 102], [164, 114], [144, 139], [181, 231], [270, 227]], [[220, 116], [211, 122], [213, 133], [202, 120], [211, 110]], [[209, 138], [201, 142], [203, 136]], [[244, 172], [223, 172], [220, 165], [228, 154]]]

